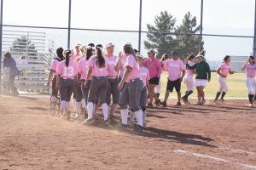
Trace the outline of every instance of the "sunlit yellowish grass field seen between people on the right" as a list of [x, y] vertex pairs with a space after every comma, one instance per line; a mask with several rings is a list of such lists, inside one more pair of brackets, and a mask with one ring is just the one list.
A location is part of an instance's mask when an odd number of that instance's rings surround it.
[[[247, 98], [247, 87], [246, 87], [246, 75], [245, 73], [235, 73], [230, 75], [227, 78], [229, 92], [226, 94], [225, 98]], [[164, 98], [166, 93], [166, 83], [167, 83], [167, 72], [163, 72], [161, 76], [161, 94], [160, 98]], [[182, 95], [186, 91], [186, 86], [182, 82]], [[205, 88], [205, 93], [207, 98], [215, 97], [218, 91], [218, 74], [216, 72], [212, 72], [212, 80], [207, 83], [207, 87]], [[195, 98], [197, 95], [196, 89], [195, 93], [191, 94], [191, 97]], [[170, 97], [177, 97], [176, 93], [170, 94]]]

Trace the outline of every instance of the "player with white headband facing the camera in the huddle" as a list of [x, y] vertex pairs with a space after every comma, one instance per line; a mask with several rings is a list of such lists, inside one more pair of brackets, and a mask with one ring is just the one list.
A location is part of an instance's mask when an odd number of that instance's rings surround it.
[[[113, 55], [113, 43], [108, 43], [106, 46], [106, 57], [109, 59], [109, 68], [108, 68], [108, 94], [107, 94], [107, 104], [109, 110], [109, 116], [113, 116], [116, 106], [119, 101], [119, 79], [117, 77], [118, 72], [115, 71], [115, 64], [117, 62], [118, 57]], [[111, 95], [112, 95], [112, 105], [111, 103]]]

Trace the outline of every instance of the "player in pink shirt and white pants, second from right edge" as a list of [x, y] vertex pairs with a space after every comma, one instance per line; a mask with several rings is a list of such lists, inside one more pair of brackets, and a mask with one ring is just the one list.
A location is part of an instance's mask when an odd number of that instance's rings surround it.
[[232, 71], [232, 65], [230, 65], [229, 55], [224, 57], [224, 63], [219, 65], [217, 74], [218, 74], [219, 88], [218, 88], [216, 97], [214, 99], [214, 102], [218, 102], [218, 97], [221, 94], [221, 98], [219, 99], [219, 101], [224, 103], [224, 96], [229, 90], [229, 87], [227, 85], [227, 77], [229, 76], [229, 74], [234, 74], [234, 71]]

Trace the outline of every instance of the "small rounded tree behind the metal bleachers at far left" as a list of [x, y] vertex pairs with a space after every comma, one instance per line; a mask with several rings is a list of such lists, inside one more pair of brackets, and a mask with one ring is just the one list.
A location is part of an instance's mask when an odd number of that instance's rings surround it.
[[[10, 48], [10, 52], [24, 52], [29, 56], [36, 56], [38, 50], [28, 37], [18, 37]], [[27, 56], [27, 57], [28, 57]]]

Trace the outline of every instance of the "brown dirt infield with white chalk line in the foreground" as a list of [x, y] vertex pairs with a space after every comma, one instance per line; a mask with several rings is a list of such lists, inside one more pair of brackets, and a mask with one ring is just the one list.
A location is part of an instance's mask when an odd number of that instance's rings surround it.
[[150, 109], [143, 132], [48, 108], [45, 98], [0, 97], [0, 169], [256, 169], [256, 109], [245, 100]]

